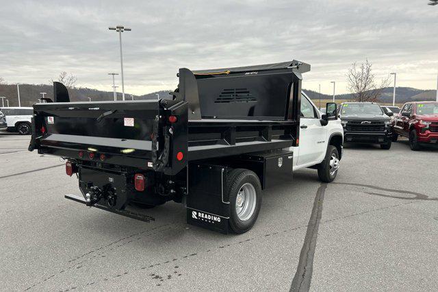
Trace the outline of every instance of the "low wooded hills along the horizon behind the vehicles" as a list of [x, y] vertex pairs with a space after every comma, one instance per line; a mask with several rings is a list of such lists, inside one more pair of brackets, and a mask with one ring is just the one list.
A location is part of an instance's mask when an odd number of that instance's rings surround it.
[[[313, 90], [303, 89], [305, 93], [312, 99], [318, 100], [319, 93]], [[147, 93], [145, 95], [132, 95], [134, 99], [157, 99], [170, 98], [168, 94], [169, 90], [161, 90], [155, 93]], [[379, 101], [390, 103], [392, 101], [392, 87], [387, 87], [383, 90], [383, 94]], [[53, 86], [47, 84], [20, 84], [20, 97], [21, 106], [31, 106], [36, 103], [37, 99], [40, 99], [40, 93], [47, 93], [46, 97], [53, 99]], [[70, 88], [68, 89], [71, 101], [88, 101], [88, 97], [91, 97], [94, 101], [113, 100], [112, 91], [101, 91], [92, 88]], [[407, 101], [426, 101], [435, 100], [436, 90], [421, 90], [409, 87], [397, 87], [396, 88], [396, 102], [398, 104]], [[18, 106], [16, 85], [13, 84], [0, 84], [0, 97], [6, 97], [9, 99], [10, 106]], [[118, 93], [118, 100], [122, 98], [122, 94]], [[130, 94], [125, 94], [126, 99], [131, 99]], [[331, 99], [332, 95], [321, 94], [321, 99]], [[336, 95], [336, 99], [352, 100], [352, 95]], [[0, 104], [1, 105], [1, 104]]]

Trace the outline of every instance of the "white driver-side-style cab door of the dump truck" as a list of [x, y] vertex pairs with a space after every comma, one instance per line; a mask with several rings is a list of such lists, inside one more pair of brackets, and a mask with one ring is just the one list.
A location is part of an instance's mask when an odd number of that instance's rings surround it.
[[326, 128], [321, 125], [316, 108], [301, 95], [300, 143], [297, 165], [318, 161], [326, 151]]

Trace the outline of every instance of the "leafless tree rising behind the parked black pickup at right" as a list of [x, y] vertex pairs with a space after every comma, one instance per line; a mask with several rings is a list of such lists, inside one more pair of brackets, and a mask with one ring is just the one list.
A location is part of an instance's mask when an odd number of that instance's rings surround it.
[[354, 62], [348, 69], [346, 76], [347, 89], [357, 101], [377, 101], [383, 89], [390, 83], [388, 75], [381, 80], [380, 84], [376, 84], [374, 73], [372, 73], [372, 63], [368, 60], [365, 60], [365, 63], [362, 63], [360, 67]]

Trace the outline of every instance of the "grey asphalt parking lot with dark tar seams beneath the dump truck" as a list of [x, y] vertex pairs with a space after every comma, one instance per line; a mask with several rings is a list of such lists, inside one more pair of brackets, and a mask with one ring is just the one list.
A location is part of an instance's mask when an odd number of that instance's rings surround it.
[[263, 192], [241, 235], [149, 223], [64, 199], [64, 162], [0, 132], [0, 284], [5, 291], [415, 290], [438, 287], [438, 150], [346, 145], [335, 182], [315, 170]]

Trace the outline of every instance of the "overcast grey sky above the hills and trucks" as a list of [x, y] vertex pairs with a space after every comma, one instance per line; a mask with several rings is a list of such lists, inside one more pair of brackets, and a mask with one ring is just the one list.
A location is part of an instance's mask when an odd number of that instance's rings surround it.
[[[179, 68], [215, 69], [300, 60], [303, 88], [347, 93], [352, 62], [376, 78], [437, 88], [438, 5], [428, 0], [10, 1], [0, 0], [0, 77], [49, 84], [62, 71], [77, 86], [112, 91], [125, 25], [125, 93], [173, 89]], [[392, 78], [392, 77], [391, 77]], [[392, 79], [391, 79], [392, 80]], [[120, 75], [116, 85], [121, 88]], [[392, 86], [392, 83], [391, 83]]]

